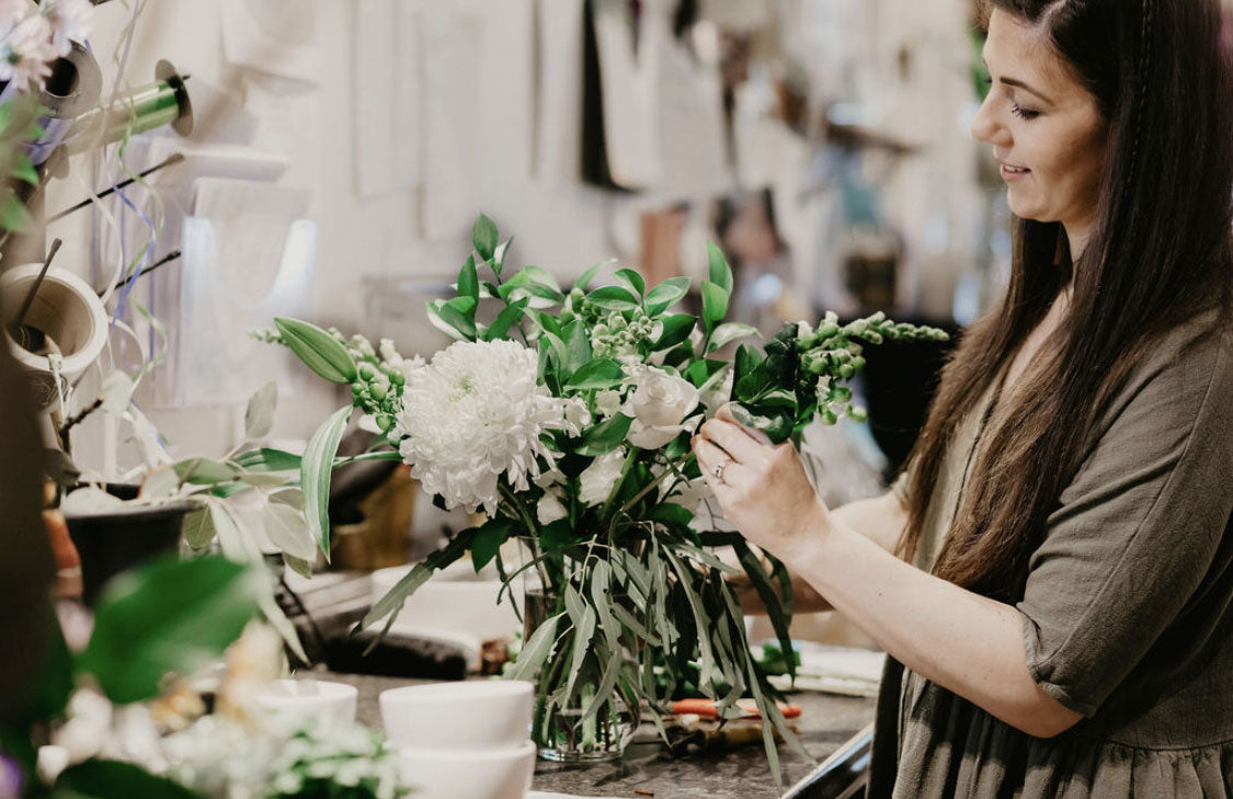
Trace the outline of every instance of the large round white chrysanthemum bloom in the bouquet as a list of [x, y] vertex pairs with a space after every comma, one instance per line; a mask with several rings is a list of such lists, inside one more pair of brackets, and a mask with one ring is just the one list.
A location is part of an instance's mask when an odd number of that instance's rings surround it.
[[402, 457], [429, 493], [448, 508], [497, 513], [498, 478], [515, 491], [530, 487], [549, 430], [578, 430], [566, 419], [567, 402], [538, 385], [535, 353], [515, 342], [459, 342], [414, 370], [403, 392], [398, 429]]

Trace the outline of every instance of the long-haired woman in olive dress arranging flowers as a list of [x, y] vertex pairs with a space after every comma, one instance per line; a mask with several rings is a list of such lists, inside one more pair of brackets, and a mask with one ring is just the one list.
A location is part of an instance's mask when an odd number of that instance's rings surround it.
[[1217, 0], [994, 0], [1011, 285], [889, 494], [694, 451], [800, 602], [891, 656], [869, 795], [1233, 797], [1233, 125]]

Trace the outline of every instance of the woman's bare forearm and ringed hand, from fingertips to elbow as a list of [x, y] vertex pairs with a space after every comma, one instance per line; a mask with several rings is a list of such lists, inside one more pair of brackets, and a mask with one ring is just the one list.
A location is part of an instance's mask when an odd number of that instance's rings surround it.
[[837, 518], [792, 445], [764, 446], [716, 418], [694, 451], [727, 519], [906, 667], [1028, 735], [1083, 718], [1032, 678], [1015, 608], [926, 575]]

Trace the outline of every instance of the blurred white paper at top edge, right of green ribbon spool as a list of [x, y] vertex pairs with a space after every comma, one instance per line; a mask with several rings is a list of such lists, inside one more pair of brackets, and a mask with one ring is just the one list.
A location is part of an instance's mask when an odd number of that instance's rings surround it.
[[317, 6], [303, 0], [222, 0], [227, 63], [305, 83], [318, 81]]

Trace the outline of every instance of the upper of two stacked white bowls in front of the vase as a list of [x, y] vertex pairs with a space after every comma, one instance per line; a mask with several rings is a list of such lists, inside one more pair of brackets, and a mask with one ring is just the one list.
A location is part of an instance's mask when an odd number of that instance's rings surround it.
[[485, 679], [381, 692], [381, 721], [393, 746], [509, 750], [528, 739], [535, 689], [529, 682]]

